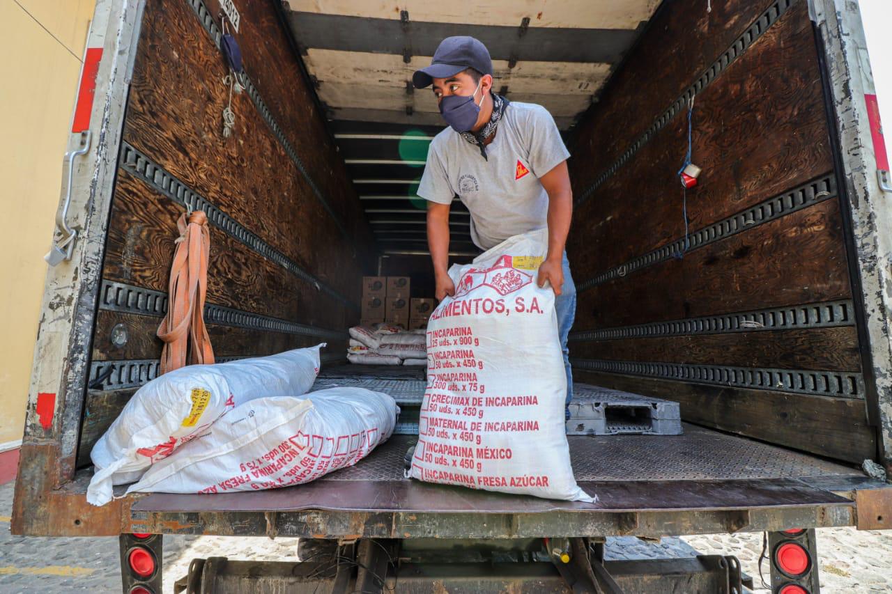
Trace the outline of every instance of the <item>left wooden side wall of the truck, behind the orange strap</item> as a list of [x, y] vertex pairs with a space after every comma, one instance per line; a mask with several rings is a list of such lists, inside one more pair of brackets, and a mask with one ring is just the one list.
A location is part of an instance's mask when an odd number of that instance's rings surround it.
[[[112, 203], [78, 463], [157, 373], [155, 330], [186, 202], [211, 219], [205, 318], [218, 360], [328, 342], [359, 319], [373, 241], [276, 12], [242, 3], [232, 96], [216, 0], [145, 6]], [[231, 29], [231, 28], [230, 28]]]

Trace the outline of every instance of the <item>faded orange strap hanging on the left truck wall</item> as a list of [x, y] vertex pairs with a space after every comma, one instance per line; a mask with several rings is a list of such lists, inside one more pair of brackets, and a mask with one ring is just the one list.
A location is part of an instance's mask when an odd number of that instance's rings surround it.
[[[188, 217], [188, 222], [186, 222]], [[164, 342], [161, 351], [161, 373], [186, 365], [186, 343], [189, 343], [189, 364], [214, 362], [211, 338], [204, 326], [204, 298], [208, 289], [208, 255], [211, 252], [211, 231], [208, 216], [202, 210], [184, 213], [177, 221], [177, 251], [170, 266], [168, 312], [158, 326], [158, 338]], [[189, 338], [192, 340], [189, 341]]]

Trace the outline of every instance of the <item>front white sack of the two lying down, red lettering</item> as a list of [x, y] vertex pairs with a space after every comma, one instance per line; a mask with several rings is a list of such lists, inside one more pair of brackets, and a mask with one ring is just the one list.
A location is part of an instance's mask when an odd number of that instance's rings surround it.
[[227, 493], [310, 483], [387, 440], [392, 396], [340, 387], [233, 408], [200, 440], [153, 465], [129, 492]]

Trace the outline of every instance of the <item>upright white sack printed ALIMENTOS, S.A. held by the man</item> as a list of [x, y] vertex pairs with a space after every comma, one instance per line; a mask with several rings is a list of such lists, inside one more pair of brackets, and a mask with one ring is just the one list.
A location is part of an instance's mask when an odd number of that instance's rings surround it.
[[427, 389], [409, 476], [430, 483], [594, 502], [566, 441], [566, 373], [555, 296], [536, 284], [548, 231], [515, 235], [454, 265], [455, 295], [427, 324]]

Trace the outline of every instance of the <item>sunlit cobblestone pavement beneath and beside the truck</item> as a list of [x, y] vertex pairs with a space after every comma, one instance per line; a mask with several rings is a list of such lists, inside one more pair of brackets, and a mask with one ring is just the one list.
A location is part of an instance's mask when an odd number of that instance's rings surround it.
[[[12, 483], [0, 485], [0, 593], [120, 592], [118, 539], [22, 538], [9, 533]], [[186, 574], [194, 557], [287, 560], [296, 558], [297, 539], [266, 537], [166, 536], [164, 592]], [[761, 533], [666, 538], [645, 542], [632, 537], [609, 539], [608, 558], [736, 555], [743, 570], [759, 584], [757, 562]], [[892, 532], [826, 529], [818, 532], [822, 592], [892, 592]], [[768, 579], [767, 565], [764, 565]], [[767, 594], [769, 590], [756, 588]]]

